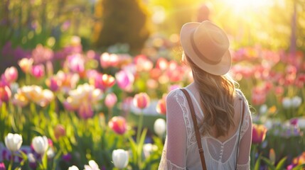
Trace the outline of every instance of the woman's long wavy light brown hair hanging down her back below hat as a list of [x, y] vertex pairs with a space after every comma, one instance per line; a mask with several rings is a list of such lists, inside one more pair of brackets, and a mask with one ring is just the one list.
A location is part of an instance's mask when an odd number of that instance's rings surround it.
[[227, 135], [231, 126], [235, 127], [233, 118], [235, 85], [237, 83], [228, 75], [217, 76], [203, 71], [188, 56], [183, 55], [183, 62], [190, 65], [194, 82], [200, 94], [204, 118], [199, 125], [203, 129], [203, 135], [211, 134], [214, 126], [215, 137]]

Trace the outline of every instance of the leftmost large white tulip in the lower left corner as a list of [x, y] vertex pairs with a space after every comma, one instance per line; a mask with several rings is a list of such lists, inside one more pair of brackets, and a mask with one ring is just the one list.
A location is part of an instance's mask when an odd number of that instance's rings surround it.
[[22, 145], [22, 136], [19, 134], [9, 133], [4, 138], [4, 142], [7, 149], [9, 149], [11, 152], [16, 152]]

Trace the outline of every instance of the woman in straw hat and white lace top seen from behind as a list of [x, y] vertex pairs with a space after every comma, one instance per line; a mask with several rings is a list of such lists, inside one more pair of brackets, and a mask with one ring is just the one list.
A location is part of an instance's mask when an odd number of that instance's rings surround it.
[[247, 99], [225, 75], [231, 66], [227, 35], [210, 21], [186, 23], [181, 45], [183, 61], [193, 72], [193, 83], [184, 88], [193, 106], [181, 89], [168, 94], [159, 169], [202, 169], [190, 107], [195, 110], [207, 169], [250, 169], [252, 118]]

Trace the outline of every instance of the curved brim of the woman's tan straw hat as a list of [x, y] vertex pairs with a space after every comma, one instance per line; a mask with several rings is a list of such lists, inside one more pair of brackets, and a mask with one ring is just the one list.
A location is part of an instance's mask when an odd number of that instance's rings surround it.
[[230, 51], [228, 50], [225, 52], [222, 60], [218, 64], [208, 64], [196, 55], [195, 50], [193, 50], [193, 46], [191, 44], [191, 34], [196, 28], [200, 25], [200, 23], [186, 23], [181, 28], [180, 33], [180, 42], [183, 47], [184, 52], [186, 55], [194, 62], [200, 69], [203, 69], [205, 72], [214, 75], [224, 75], [229, 72], [231, 68], [231, 55]]

